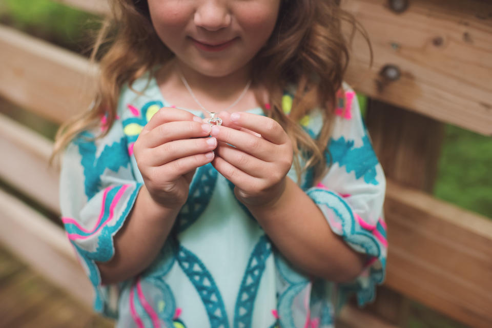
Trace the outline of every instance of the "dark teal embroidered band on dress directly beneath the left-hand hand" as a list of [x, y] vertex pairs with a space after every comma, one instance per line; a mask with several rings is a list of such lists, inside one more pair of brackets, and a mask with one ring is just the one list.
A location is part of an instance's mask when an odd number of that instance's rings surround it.
[[175, 229], [178, 233], [190, 227], [207, 208], [217, 182], [217, 174], [212, 163], [197, 169], [191, 181], [188, 199], [176, 220]]

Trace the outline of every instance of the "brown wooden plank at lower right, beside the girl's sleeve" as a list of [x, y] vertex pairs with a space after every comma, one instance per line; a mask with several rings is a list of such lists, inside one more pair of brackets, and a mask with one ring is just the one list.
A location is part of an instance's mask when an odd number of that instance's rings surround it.
[[492, 325], [492, 221], [391, 181], [385, 215], [385, 284], [468, 325]]

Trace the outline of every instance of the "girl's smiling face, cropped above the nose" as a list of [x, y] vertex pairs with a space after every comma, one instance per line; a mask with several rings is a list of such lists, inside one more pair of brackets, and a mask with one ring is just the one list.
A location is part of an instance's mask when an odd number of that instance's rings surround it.
[[162, 42], [193, 70], [221, 77], [245, 67], [267, 42], [280, 0], [148, 0]]

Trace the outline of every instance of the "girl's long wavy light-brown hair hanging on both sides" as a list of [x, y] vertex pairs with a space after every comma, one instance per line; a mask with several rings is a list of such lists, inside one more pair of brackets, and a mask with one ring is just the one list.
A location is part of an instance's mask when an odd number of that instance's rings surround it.
[[[104, 48], [101, 45], [110, 45], [100, 59], [93, 106], [60, 127], [54, 155], [80, 132], [99, 126], [105, 116], [107, 129], [98, 137], [104, 136], [115, 121], [121, 88], [125, 84], [131, 87], [136, 79], [174, 56], [153, 28], [146, 0], [113, 0], [111, 9], [112, 15], [105, 19], [91, 54], [95, 61]], [[342, 31], [342, 23], [348, 23], [348, 32]], [[339, 0], [281, 0], [272, 35], [253, 58], [252, 82], [266, 88], [270, 108], [264, 108], [259, 93], [257, 102], [291, 137], [298, 177], [311, 168], [315, 182], [324, 172], [337, 91], [342, 87], [357, 31], [369, 43], [364, 28], [340, 8]], [[296, 89], [293, 106], [285, 115], [282, 96], [292, 86]], [[323, 125], [318, 138], [313, 139], [298, 121], [316, 107], [322, 109]]]

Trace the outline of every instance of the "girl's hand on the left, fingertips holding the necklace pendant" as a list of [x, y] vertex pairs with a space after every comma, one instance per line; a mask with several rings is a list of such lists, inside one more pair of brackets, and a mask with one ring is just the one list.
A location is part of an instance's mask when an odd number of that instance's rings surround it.
[[210, 124], [185, 110], [160, 109], [133, 146], [138, 169], [152, 199], [160, 206], [181, 208], [195, 170], [214, 159], [217, 140]]

